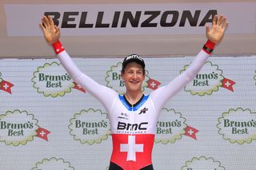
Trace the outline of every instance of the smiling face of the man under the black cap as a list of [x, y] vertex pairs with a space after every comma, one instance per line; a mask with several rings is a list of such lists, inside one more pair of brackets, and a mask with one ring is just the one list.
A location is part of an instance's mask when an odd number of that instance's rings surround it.
[[130, 62], [121, 73], [121, 77], [126, 85], [127, 92], [142, 92], [142, 82], [145, 80], [142, 65], [136, 62]]

